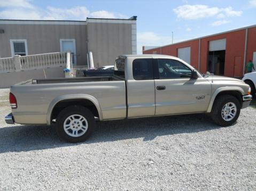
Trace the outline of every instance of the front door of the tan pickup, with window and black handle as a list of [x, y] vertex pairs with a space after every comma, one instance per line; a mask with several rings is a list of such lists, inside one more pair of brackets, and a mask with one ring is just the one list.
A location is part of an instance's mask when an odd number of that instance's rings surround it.
[[211, 98], [209, 81], [191, 79], [191, 69], [174, 59], [158, 59], [156, 70], [156, 115], [207, 110]]

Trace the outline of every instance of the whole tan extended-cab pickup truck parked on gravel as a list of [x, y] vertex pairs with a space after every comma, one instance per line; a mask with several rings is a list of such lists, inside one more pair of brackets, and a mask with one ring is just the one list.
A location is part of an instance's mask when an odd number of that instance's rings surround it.
[[243, 81], [206, 76], [177, 57], [121, 55], [114, 75], [36, 79], [10, 88], [12, 113], [7, 123], [55, 124], [67, 142], [82, 142], [96, 119], [210, 113], [215, 123], [230, 126], [251, 101]]

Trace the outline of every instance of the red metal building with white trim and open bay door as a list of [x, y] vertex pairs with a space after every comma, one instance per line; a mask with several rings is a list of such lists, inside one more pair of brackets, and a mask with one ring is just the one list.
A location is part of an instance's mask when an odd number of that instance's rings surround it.
[[172, 55], [204, 73], [243, 77], [249, 60], [256, 69], [256, 25], [147, 50], [143, 46], [143, 54]]

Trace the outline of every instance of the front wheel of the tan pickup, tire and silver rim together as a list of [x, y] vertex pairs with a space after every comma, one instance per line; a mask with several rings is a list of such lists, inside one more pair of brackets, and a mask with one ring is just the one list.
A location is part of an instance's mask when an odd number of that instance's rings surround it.
[[221, 95], [214, 101], [210, 115], [216, 124], [222, 127], [227, 127], [236, 122], [240, 110], [241, 104], [236, 97], [231, 95]]

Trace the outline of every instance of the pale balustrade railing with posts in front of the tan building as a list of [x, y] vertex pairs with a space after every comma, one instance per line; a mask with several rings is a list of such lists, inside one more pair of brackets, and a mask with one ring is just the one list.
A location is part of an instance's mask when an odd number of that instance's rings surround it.
[[70, 52], [35, 54], [28, 56], [14, 55], [0, 59], [0, 73], [43, 68], [68, 67], [72, 56]]

